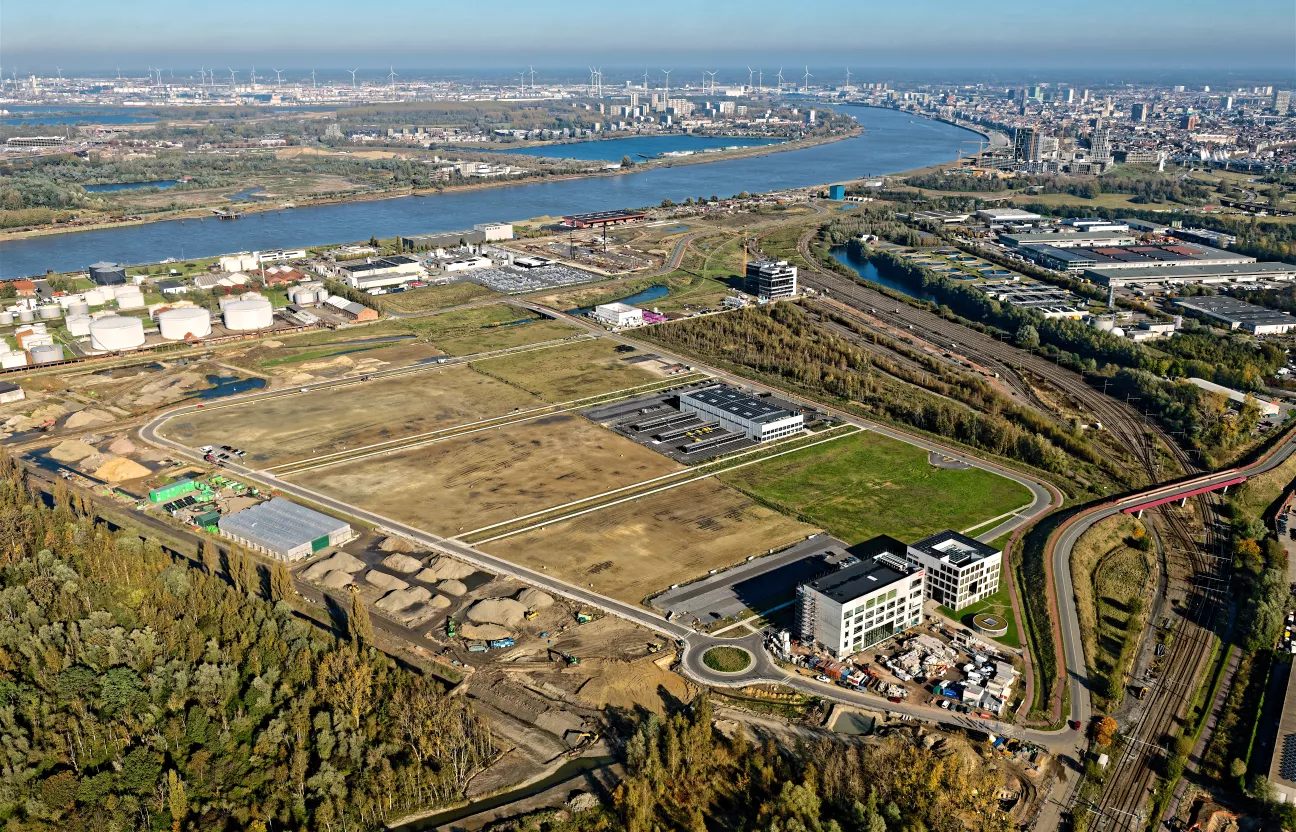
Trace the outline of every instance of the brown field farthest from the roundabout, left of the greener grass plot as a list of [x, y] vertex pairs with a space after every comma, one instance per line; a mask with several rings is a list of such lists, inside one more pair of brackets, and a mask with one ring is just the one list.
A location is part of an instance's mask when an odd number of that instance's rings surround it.
[[162, 433], [191, 447], [232, 445], [248, 451], [245, 463], [264, 468], [537, 404], [522, 390], [452, 365], [209, 408], [176, 417]]

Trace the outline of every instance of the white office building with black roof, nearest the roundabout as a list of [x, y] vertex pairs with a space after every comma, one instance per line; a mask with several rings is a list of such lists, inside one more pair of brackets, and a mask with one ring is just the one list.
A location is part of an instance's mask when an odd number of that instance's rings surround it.
[[855, 562], [797, 587], [797, 638], [837, 658], [923, 622], [925, 572], [905, 544], [880, 537], [858, 548]]

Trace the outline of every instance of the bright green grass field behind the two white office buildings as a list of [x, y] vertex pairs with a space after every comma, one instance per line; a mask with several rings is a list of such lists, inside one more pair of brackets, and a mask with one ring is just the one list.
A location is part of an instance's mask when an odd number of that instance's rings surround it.
[[927, 451], [872, 432], [721, 478], [851, 544], [879, 534], [914, 542], [942, 529], [960, 531], [1030, 502], [1011, 480], [980, 468], [936, 468]]

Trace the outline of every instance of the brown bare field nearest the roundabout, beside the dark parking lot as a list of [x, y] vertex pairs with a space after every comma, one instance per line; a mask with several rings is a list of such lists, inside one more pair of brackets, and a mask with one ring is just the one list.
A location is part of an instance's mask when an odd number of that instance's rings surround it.
[[816, 531], [714, 480], [621, 503], [482, 548], [638, 604]]

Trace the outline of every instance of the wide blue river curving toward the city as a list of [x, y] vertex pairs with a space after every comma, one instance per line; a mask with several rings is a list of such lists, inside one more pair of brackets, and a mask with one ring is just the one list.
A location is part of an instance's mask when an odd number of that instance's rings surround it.
[[945, 162], [958, 154], [964, 139], [975, 135], [897, 110], [837, 109], [858, 118], [864, 132], [798, 150], [616, 176], [338, 202], [264, 211], [238, 220], [165, 220], [9, 240], [0, 242], [0, 277], [76, 271], [97, 260], [156, 263], [168, 257], [315, 246], [367, 240], [371, 235], [457, 231], [483, 222], [657, 205], [667, 197], [679, 202], [686, 197], [804, 188]]

